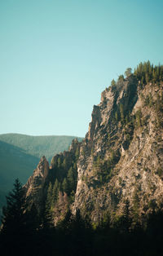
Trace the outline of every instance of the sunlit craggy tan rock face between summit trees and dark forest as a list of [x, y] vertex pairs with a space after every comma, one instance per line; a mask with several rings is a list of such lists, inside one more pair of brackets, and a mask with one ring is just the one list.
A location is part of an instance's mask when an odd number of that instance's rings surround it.
[[[138, 218], [162, 208], [162, 95], [163, 83], [144, 84], [133, 74], [104, 90], [100, 104], [93, 108], [86, 138], [81, 143], [73, 141], [68, 152], [56, 155], [50, 169], [42, 157], [25, 185], [29, 201], [38, 205], [46, 197], [45, 184], [54, 184], [61, 173], [68, 177], [75, 163], [75, 196], [66, 201], [73, 213], [79, 209], [99, 222], [106, 214], [111, 218], [121, 215], [126, 200]], [[66, 165], [59, 167], [58, 159]], [[70, 196], [60, 187], [58, 200], [64, 201], [66, 195]], [[59, 218], [55, 206], [54, 212]]]

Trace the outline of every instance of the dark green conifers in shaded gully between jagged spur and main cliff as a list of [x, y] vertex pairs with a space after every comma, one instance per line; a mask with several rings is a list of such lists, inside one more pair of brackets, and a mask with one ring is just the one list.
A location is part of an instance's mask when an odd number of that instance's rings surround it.
[[[65, 209], [72, 204], [77, 189], [77, 159], [79, 157], [79, 143], [73, 141], [73, 152], [64, 152], [53, 157], [51, 161], [51, 181], [46, 184], [45, 210], [50, 219], [59, 207]], [[62, 202], [64, 205], [61, 206]], [[61, 203], [60, 203], [61, 202]], [[60, 206], [59, 206], [60, 205]], [[46, 214], [46, 212], [44, 213]], [[50, 221], [52, 222], [52, 221]]]

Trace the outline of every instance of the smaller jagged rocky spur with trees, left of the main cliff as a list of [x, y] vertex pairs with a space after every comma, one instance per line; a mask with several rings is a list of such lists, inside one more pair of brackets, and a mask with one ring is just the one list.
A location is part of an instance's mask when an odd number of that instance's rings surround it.
[[[51, 183], [51, 186], [54, 187], [57, 180], [58, 187], [55, 186], [55, 194], [53, 192], [53, 195], [57, 199], [55, 202], [51, 202], [55, 213], [55, 223], [60, 219], [60, 214], [64, 216], [68, 209], [67, 193], [70, 195], [71, 192], [74, 193], [74, 190], [76, 191], [77, 158], [79, 155], [80, 144], [81, 143], [79, 143], [77, 139], [73, 139], [68, 151], [61, 152], [52, 158], [51, 166], [49, 166], [48, 161], [46, 161], [46, 157], [42, 157], [38, 163], [37, 169], [33, 171], [33, 175], [24, 185], [29, 208], [34, 204], [37, 207], [38, 212], [42, 214], [42, 210], [46, 209], [49, 185]], [[68, 185], [65, 184], [64, 187], [66, 192], [64, 192], [63, 182], [65, 183], [64, 179], [67, 179], [68, 175], [68, 179], [71, 181], [71, 188], [68, 188]]]

